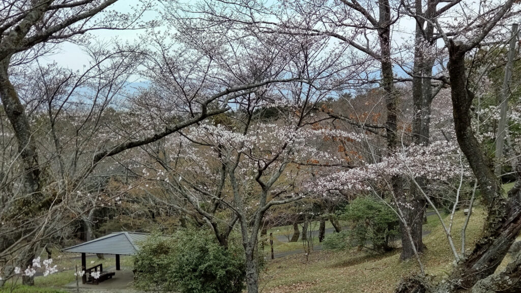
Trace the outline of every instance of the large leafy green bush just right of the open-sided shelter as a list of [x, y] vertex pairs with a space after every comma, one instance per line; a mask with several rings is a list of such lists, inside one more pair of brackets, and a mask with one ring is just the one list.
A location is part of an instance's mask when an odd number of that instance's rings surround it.
[[241, 247], [230, 241], [225, 249], [201, 230], [150, 237], [135, 255], [134, 267], [134, 286], [145, 291], [239, 293], [244, 287]]

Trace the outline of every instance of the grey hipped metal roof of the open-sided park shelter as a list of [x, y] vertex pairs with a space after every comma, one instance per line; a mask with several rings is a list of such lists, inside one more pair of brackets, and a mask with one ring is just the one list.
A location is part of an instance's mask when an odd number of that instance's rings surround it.
[[62, 251], [133, 255], [138, 252], [140, 242], [146, 240], [148, 236], [150, 236], [150, 234], [115, 232], [79, 245], [71, 246]]

